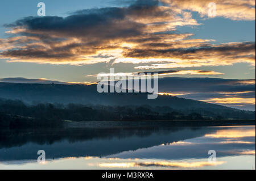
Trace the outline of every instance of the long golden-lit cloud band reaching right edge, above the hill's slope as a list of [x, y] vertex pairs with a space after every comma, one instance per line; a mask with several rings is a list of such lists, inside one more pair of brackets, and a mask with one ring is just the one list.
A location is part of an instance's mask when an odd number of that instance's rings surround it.
[[246, 62], [255, 66], [255, 43], [228, 43], [190, 49], [137, 48], [127, 50], [124, 58], [118, 58], [115, 62], [133, 64], [158, 62], [158, 64], [136, 66], [135, 69], [220, 66], [233, 65], [238, 62]]

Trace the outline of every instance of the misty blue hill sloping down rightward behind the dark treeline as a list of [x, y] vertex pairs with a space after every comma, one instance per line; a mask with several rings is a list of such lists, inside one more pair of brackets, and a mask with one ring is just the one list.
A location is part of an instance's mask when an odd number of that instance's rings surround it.
[[[62, 103], [62, 104], [93, 104], [104, 106], [166, 106], [174, 110], [195, 110], [209, 112], [208, 115], [240, 115], [251, 111], [200, 102], [197, 100], [177, 98], [176, 96], [159, 95], [157, 99], [147, 99], [148, 93], [98, 93], [97, 85], [61, 85], [61, 84], [29, 84], [0, 83], [0, 98], [18, 99], [24, 103]], [[255, 115], [255, 112], [254, 112]], [[228, 116], [230, 117], [230, 116]], [[231, 116], [232, 117], [232, 116]]]

